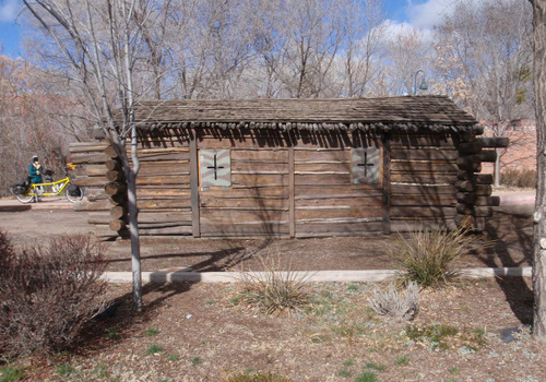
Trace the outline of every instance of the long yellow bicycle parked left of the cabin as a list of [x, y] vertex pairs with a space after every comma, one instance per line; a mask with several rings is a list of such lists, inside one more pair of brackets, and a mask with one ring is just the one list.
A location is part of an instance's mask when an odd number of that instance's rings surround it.
[[21, 203], [39, 202], [43, 196], [57, 196], [64, 191], [67, 199], [72, 202], [79, 202], [83, 199], [85, 189], [76, 186], [69, 175], [69, 170], [74, 170], [75, 165], [68, 164], [64, 168], [66, 178], [54, 181], [54, 171], [44, 171], [46, 182], [32, 183], [31, 181], [20, 182], [12, 186], [12, 193]]

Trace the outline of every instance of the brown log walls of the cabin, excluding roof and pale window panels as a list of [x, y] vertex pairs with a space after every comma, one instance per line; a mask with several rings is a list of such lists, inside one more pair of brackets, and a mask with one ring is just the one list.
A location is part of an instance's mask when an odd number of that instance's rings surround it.
[[[250, 129], [193, 134], [141, 136], [142, 236], [355, 236], [451, 228], [463, 220], [483, 229], [498, 205], [491, 177], [479, 174], [482, 162], [495, 160], [487, 150], [492, 143], [474, 135]], [[381, 182], [353, 184], [352, 147], [368, 145], [381, 147]], [[94, 188], [75, 208], [90, 212], [103, 238], [117, 237], [127, 225], [123, 179], [110, 148], [71, 146], [73, 162], [85, 165], [76, 183]], [[230, 150], [227, 189], [198, 184], [199, 151], [212, 148]]]

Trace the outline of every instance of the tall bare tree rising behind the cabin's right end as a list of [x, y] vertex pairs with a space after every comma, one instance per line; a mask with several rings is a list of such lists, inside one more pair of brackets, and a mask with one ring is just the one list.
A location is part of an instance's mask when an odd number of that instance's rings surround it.
[[[438, 89], [454, 97], [494, 136], [532, 114], [531, 7], [521, 0], [460, 1], [436, 29]], [[495, 184], [500, 182], [498, 150]]]

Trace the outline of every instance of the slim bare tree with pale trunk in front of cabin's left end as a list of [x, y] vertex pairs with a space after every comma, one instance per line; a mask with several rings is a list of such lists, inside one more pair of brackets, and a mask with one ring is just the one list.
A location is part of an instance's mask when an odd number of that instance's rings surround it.
[[[134, 106], [147, 94], [135, 83], [146, 63], [143, 23], [153, 14], [146, 0], [23, 0], [29, 14], [55, 47], [60, 65], [85, 94], [95, 121], [119, 156], [127, 178], [131, 238], [133, 309], [142, 309], [142, 277], [135, 181], [140, 163]], [[143, 55], [144, 53], [144, 55]], [[155, 81], [152, 81], [155, 84]], [[130, 156], [126, 150], [130, 144]]]

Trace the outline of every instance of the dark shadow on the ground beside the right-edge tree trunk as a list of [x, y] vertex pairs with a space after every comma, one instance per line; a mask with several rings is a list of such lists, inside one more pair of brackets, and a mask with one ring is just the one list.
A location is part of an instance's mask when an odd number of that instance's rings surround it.
[[[496, 213], [487, 220], [484, 238], [487, 250], [474, 251], [488, 267], [529, 266], [533, 256], [531, 217]], [[515, 251], [520, 252], [515, 255]], [[523, 277], [496, 277], [512, 312], [522, 324], [533, 321], [533, 290]]]

